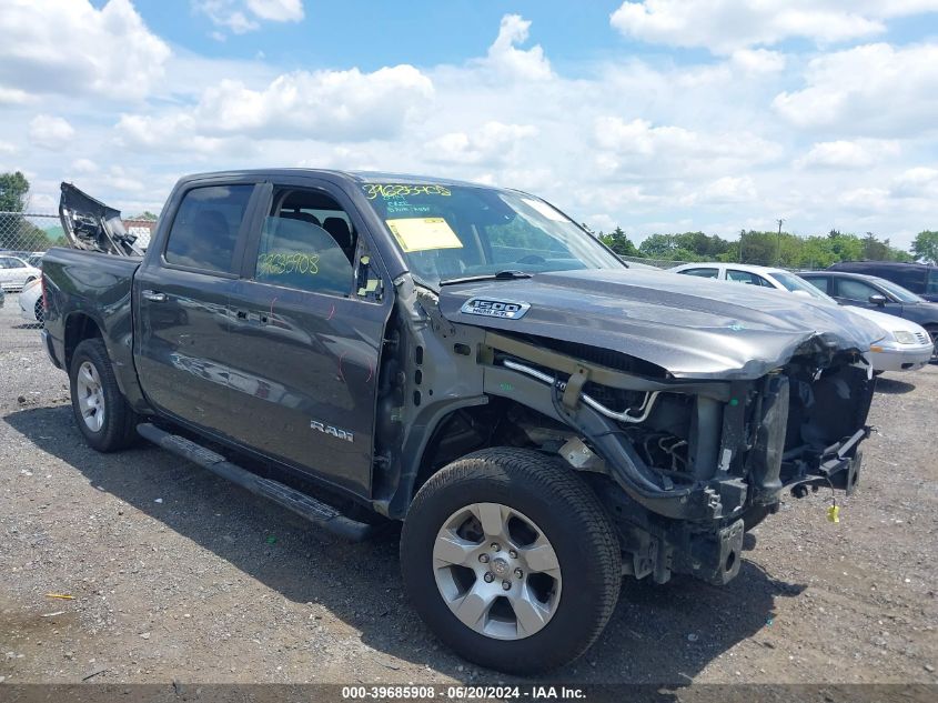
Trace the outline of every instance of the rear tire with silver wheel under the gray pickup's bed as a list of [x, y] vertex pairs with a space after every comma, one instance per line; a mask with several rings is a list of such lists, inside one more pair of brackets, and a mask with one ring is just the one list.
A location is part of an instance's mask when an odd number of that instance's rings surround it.
[[118, 386], [101, 339], [84, 340], [72, 354], [69, 385], [78, 429], [99, 452], [115, 452], [137, 439], [137, 414]]

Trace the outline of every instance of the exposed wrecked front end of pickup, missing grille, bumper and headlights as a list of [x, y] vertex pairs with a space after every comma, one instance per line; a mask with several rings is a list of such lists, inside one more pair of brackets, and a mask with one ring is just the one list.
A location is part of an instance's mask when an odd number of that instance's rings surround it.
[[554, 416], [574, 430], [555, 451], [601, 484], [636, 578], [726, 583], [745, 531], [786, 491], [856, 485], [873, 398], [856, 354], [804, 354], [760, 379], [715, 382], [582, 361], [556, 369], [543, 354], [496, 353], [492, 363], [539, 381]]

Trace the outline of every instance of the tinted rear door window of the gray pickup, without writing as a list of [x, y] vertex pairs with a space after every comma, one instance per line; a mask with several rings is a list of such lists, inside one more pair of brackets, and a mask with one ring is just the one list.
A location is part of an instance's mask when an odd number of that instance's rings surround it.
[[238, 230], [254, 187], [194, 188], [182, 199], [167, 242], [168, 263], [235, 273]]

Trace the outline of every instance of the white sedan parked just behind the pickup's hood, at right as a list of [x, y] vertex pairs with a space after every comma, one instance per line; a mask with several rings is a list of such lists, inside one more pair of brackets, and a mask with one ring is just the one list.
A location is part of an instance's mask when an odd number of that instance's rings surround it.
[[[827, 293], [819, 291], [805, 279], [769, 267], [756, 267], [745, 263], [685, 263], [674, 269], [674, 273], [696, 275], [718, 281], [733, 281], [762, 288], [810, 297], [815, 300], [839, 304]], [[847, 307], [844, 308], [847, 310]], [[849, 308], [853, 314], [859, 314], [882, 328], [884, 338], [870, 348], [869, 360], [876, 373], [884, 371], [916, 371], [931, 361], [935, 345], [925, 328], [910, 320], [889, 315], [866, 308]]]

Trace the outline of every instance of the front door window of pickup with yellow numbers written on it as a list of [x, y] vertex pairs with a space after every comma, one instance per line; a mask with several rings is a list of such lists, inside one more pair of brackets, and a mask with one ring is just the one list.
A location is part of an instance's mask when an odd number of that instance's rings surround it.
[[349, 214], [330, 195], [312, 190], [275, 192], [261, 232], [254, 280], [347, 297], [356, 241]]

